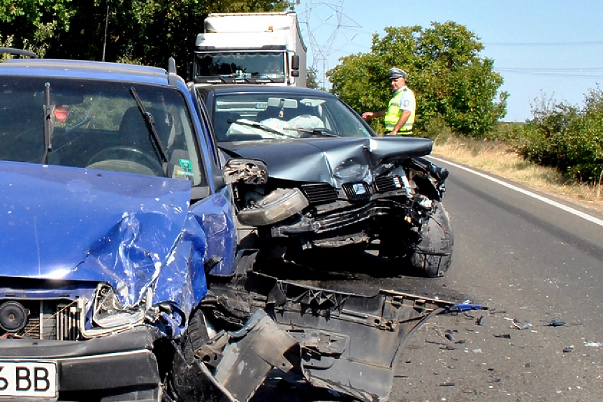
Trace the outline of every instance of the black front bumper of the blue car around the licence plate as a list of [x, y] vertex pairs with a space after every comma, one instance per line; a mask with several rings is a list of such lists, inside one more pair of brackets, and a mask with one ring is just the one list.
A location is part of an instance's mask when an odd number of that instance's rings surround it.
[[0, 360], [57, 362], [59, 401], [73, 392], [95, 391], [98, 396], [98, 391], [110, 395], [158, 390], [159, 370], [152, 349], [159, 337], [157, 329], [145, 327], [86, 341], [2, 339]]

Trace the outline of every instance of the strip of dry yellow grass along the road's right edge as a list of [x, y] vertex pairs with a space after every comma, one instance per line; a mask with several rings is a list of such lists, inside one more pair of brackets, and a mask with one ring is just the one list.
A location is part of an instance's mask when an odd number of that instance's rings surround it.
[[507, 145], [500, 142], [474, 141], [446, 136], [445, 139], [436, 138], [432, 154], [497, 174], [594, 211], [603, 212], [601, 184], [598, 186], [575, 184], [568, 181], [557, 170], [543, 168], [523, 160], [514, 154]]

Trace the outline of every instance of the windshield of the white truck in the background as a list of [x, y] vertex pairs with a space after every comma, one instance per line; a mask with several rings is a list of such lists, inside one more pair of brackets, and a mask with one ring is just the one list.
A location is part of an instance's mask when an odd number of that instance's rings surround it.
[[233, 79], [250, 82], [284, 82], [285, 66], [282, 52], [215, 52], [197, 53], [195, 81]]

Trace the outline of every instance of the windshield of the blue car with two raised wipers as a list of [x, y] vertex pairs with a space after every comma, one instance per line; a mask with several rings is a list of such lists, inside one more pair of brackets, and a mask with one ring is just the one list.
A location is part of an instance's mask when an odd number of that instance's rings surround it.
[[196, 185], [204, 176], [194, 138], [184, 98], [172, 88], [0, 77], [1, 161], [173, 177]]

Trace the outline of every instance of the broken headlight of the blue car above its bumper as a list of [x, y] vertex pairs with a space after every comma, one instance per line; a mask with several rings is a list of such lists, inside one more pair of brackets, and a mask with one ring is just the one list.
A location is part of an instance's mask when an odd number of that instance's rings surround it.
[[[147, 290], [143, 301], [133, 308], [124, 308], [109, 285], [100, 284], [94, 292], [92, 300], [92, 328], [80, 327], [80, 332], [85, 338], [91, 338], [119, 332], [140, 325], [145, 320], [145, 315], [152, 301], [152, 290]], [[83, 320], [82, 320], [83, 321]], [[83, 324], [83, 322], [82, 322]]]

